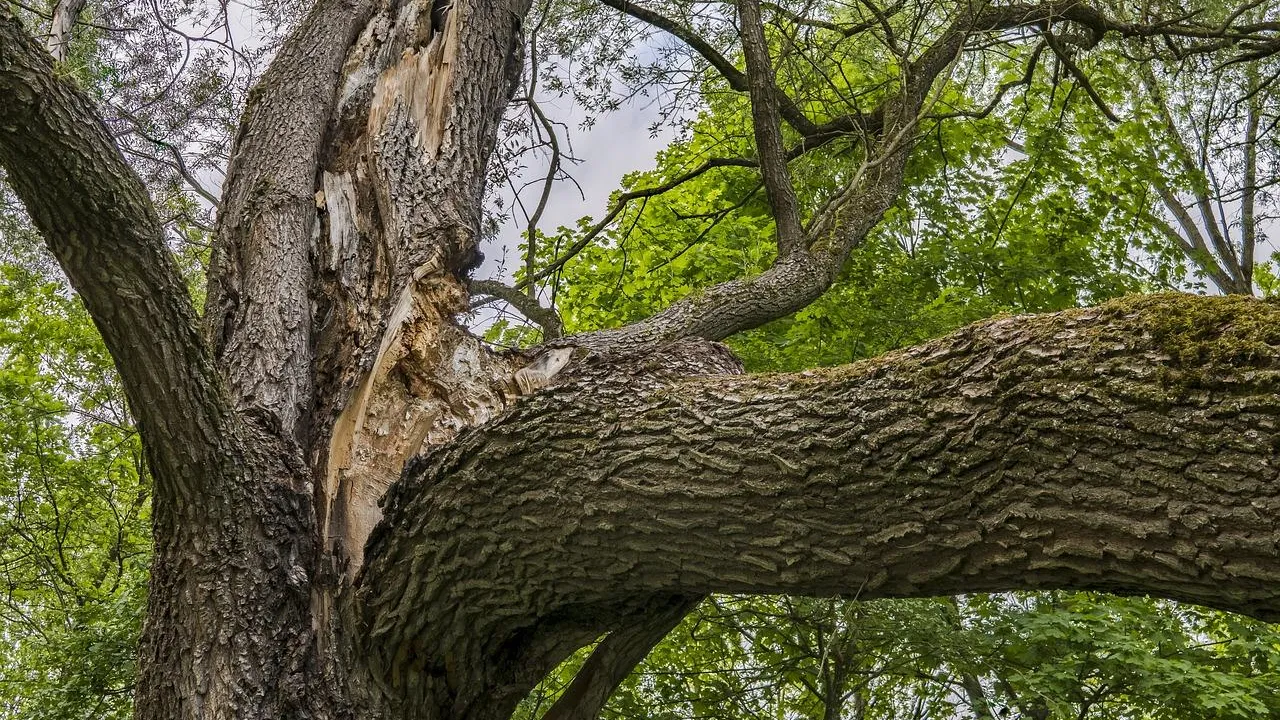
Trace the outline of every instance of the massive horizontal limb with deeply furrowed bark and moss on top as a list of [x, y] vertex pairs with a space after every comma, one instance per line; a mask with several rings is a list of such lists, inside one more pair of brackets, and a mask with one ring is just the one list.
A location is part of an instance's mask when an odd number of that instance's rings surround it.
[[406, 678], [710, 592], [1082, 588], [1280, 619], [1277, 328], [1165, 295], [795, 375], [654, 379], [676, 351], [595, 370], [393, 488], [365, 650]]

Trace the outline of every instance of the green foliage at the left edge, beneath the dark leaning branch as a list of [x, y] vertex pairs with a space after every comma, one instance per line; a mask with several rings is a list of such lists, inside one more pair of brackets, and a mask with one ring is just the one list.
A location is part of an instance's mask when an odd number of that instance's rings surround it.
[[79, 300], [0, 217], [0, 717], [128, 717], [150, 488]]

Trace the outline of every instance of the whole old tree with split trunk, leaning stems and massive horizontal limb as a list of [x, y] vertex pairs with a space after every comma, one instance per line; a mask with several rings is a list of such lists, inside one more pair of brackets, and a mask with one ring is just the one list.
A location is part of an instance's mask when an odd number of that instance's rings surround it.
[[[604, 634], [549, 711], [590, 716], [718, 591], [1092, 588], [1280, 616], [1271, 305], [1005, 318], [797, 375], [740, 375], [714, 343], [820, 296], [923, 124], [983, 111], [937, 101], [968, 53], [1043, 44], [1025, 61], [1052, 53], [1087, 85], [1074, 56], [1107, 44], [1239, 59], [1280, 49], [1274, 23], [769, 5], [881, 68], [814, 117], [753, 0], [704, 18], [736, 13], [745, 70], [692, 23], [604, 4], [749, 99], [754, 156], [694, 173], [758, 168], [776, 259], [512, 354], [454, 315], [526, 4], [311, 9], [247, 100], [204, 332], [145, 187], [5, 6], [0, 164], [116, 363], [155, 482], [140, 717], [507, 717]], [[823, 152], [858, 170], [801, 204], [790, 161]]]

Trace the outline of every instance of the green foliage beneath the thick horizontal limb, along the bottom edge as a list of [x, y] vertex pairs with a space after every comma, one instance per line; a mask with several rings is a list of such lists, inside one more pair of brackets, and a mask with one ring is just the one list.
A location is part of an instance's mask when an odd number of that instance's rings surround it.
[[[586, 655], [517, 717], [545, 711]], [[1277, 661], [1266, 623], [1142, 598], [713, 597], [604, 717], [1244, 720], [1280, 712]]]

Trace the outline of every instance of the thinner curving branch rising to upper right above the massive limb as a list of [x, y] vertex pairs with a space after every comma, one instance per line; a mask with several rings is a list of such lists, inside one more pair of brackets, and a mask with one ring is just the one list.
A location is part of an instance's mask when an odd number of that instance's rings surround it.
[[[613, 6], [620, 3], [626, 5], [623, 0], [604, 1], [613, 4]], [[631, 8], [631, 5], [626, 6]], [[750, 8], [746, 9], [750, 12]], [[631, 14], [644, 19], [641, 13]], [[722, 283], [677, 301], [662, 313], [632, 325], [570, 338], [567, 342], [604, 350], [611, 347], [631, 348], [681, 337], [719, 340], [804, 307], [829, 287], [849, 254], [863, 242], [883, 214], [897, 201], [906, 160], [914, 146], [920, 119], [925, 115], [925, 102], [937, 78], [951, 67], [974, 37], [1016, 28], [1042, 27], [1056, 20], [1070, 20], [1092, 33], [1089, 37], [1073, 40], [1073, 42], [1085, 47], [1096, 45], [1106, 33], [1116, 33], [1123, 37], [1171, 36], [1190, 38], [1230, 38], [1240, 33], [1240, 31], [1230, 28], [1197, 26], [1190, 22], [1190, 17], [1164, 22], [1158, 26], [1125, 23], [1110, 18], [1096, 8], [1075, 1], [1014, 5], [975, 4], [960, 9], [932, 45], [915, 59], [904, 63], [904, 74], [897, 92], [891, 94], [868, 113], [836, 118], [813, 128], [818, 132], [833, 133], [833, 137], [858, 135], [863, 141], [865, 159], [852, 181], [814, 213], [806, 228], [808, 251], [791, 255], [780, 252], [776, 264], [755, 278]], [[663, 24], [657, 27], [663, 29], [671, 29], [668, 26], [673, 24], [666, 18], [662, 18], [660, 22]], [[744, 27], [744, 32], [749, 29], [749, 27]], [[677, 31], [682, 33], [677, 36], [690, 42], [684, 37], [690, 35], [687, 29], [680, 27], [672, 29], [672, 32]], [[1056, 47], [1050, 46], [1065, 58], [1066, 53], [1057, 38], [1046, 38], [1044, 42], [1051, 40]], [[758, 56], [759, 46], [751, 49], [750, 45], [750, 37], [744, 35], [744, 51], [748, 53], [749, 58]], [[1034, 60], [1038, 56], [1039, 50], [1033, 55], [1033, 63], [1028, 72], [1034, 72]], [[1066, 61], [1074, 67], [1070, 58], [1066, 58]], [[712, 64], [717, 68], [722, 65], [718, 61], [712, 61]], [[760, 72], [763, 70], [755, 61], [746, 73], [748, 78], [742, 78], [740, 70], [732, 69], [727, 79], [735, 90], [750, 91], [750, 81], [754, 79], [750, 76]], [[744, 85], [744, 79], [749, 82]], [[1025, 79], [1024, 77], [1023, 81]], [[1084, 79], [1083, 83], [1088, 85], [1088, 81]], [[1002, 87], [997, 92], [997, 99], [1007, 88]], [[1087, 87], [1087, 90], [1092, 88]], [[758, 132], [762, 126], [765, 129], [774, 127], [768, 119], [768, 105], [758, 102], [760, 90], [756, 90], [753, 95], [753, 114], [756, 117], [753, 119]], [[1100, 101], [1098, 97], [1094, 100]], [[781, 100], [778, 102], [780, 111], [786, 119], [786, 104]], [[1101, 106], [1105, 109], [1105, 105]], [[1105, 111], [1110, 113], [1110, 110]], [[1111, 115], [1114, 117], [1114, 113]], [[805, 142], [815, 137], [804, 131], [801, 135]], [[829, 141], [826, 136], [823, 138], [823, 142]], [[777, 168], [781, 163], [777, 161], [778, 154], [771, 145], [768, 133], [763, 140], [764, 147], [759, 152], [762, 164], [765, 163], [767, 156], [772, 156], [768, 163]], [[772, 181], [769, 174], [772, 174]], [[780, 173], [769, 174], [765, 174], [765, 182], [772, 182], [774, 186], [769, 188], [771, 195], [785, 197], [785, 191], [776, 187], [780, 183]], [[1215, 246], [1219, 245], [1216, 238], [1213, 242]]]

